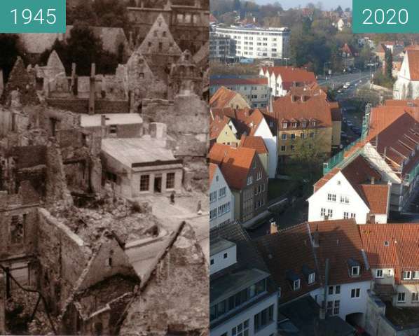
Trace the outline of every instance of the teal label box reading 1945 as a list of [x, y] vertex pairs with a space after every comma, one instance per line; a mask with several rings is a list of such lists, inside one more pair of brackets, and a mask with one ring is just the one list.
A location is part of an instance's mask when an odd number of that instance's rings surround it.
[[0, 0], [0, 33], [65, 33], [65, 0]]

